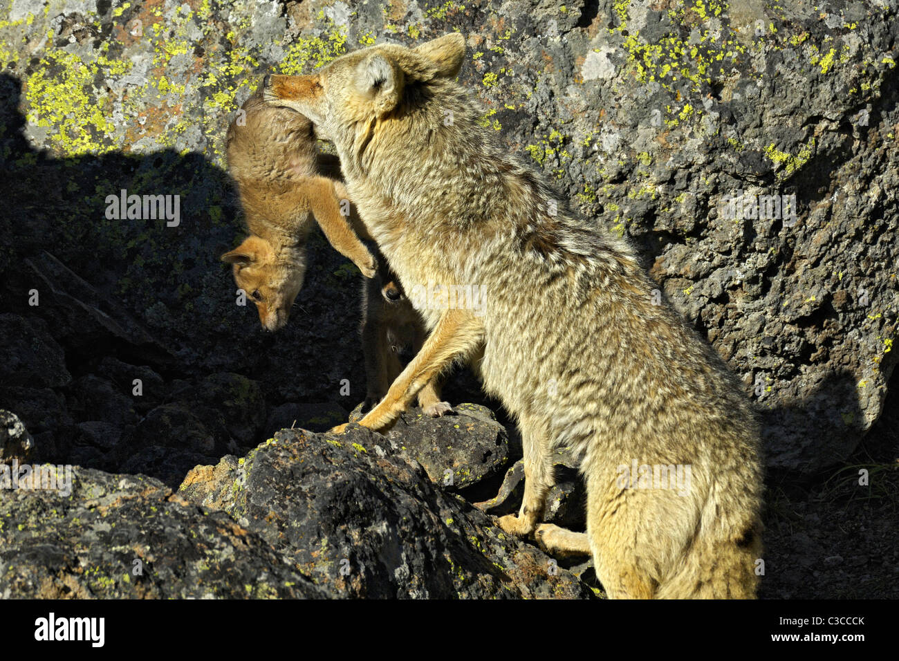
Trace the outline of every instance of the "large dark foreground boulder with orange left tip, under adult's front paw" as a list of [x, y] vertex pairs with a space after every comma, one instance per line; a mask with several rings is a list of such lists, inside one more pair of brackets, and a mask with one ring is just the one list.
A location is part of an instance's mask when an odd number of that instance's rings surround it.
[[191, 471], [179, 494], [221, 506], [330, 596], [588, 597], [553, 558], [381, 456], [387, 439], [284, 430], [244, 459]]

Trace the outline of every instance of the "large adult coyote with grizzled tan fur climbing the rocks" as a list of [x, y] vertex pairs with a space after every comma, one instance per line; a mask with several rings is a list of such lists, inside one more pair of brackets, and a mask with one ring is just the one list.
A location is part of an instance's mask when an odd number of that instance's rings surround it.
[[[407, 290], [483, 292], [479, 314], [446, 299], [423, 306], [431, 335], [360, 424], [387, 428], [450, 362], [473, 361], [521, 428], [524, 501], [499, 520], [505, 531], [589, 549], [611, 597], [754, 596], [762, 484], [747, 398], [654, 296], [628, 242], [576, 217], [480, 126], [480, 105], [454, 81], [464, 51], [449, 34], [266, 81], [267, 101], [334, 142]], [[557, 445], [581, 457], [586, 534], [539, 525]], [[689, 484], [674, 487], [678, 473]]]

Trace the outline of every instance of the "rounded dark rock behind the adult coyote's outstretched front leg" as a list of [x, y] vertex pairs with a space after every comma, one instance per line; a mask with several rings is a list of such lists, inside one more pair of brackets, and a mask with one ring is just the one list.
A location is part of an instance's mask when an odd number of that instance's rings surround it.
[[[453, 414], [432, 418], [418, 407], [401, 415], [387, 433], [390, 447], [418, 461], [444, 487], [471, 487], [509, 462], [509, 437], [493, 411], [459, 404]], [[385, 451], [388, 448], [384, 448]]]

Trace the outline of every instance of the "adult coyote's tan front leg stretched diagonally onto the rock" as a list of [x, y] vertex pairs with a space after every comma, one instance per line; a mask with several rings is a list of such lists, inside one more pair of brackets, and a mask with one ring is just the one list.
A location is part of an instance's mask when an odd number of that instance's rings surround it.
[[[376, 432], [389, 429], [425, 385], [450, 362], [467, 356], [483, 341], [484, 326], [471, 310], [445, 311], [432, 334], [424, 341], [422, 350], [387, 390], [387, 396], [359, 424]], [[331, 431], [343, 433], [345, 429], [346, 424], [341, 424]]]

